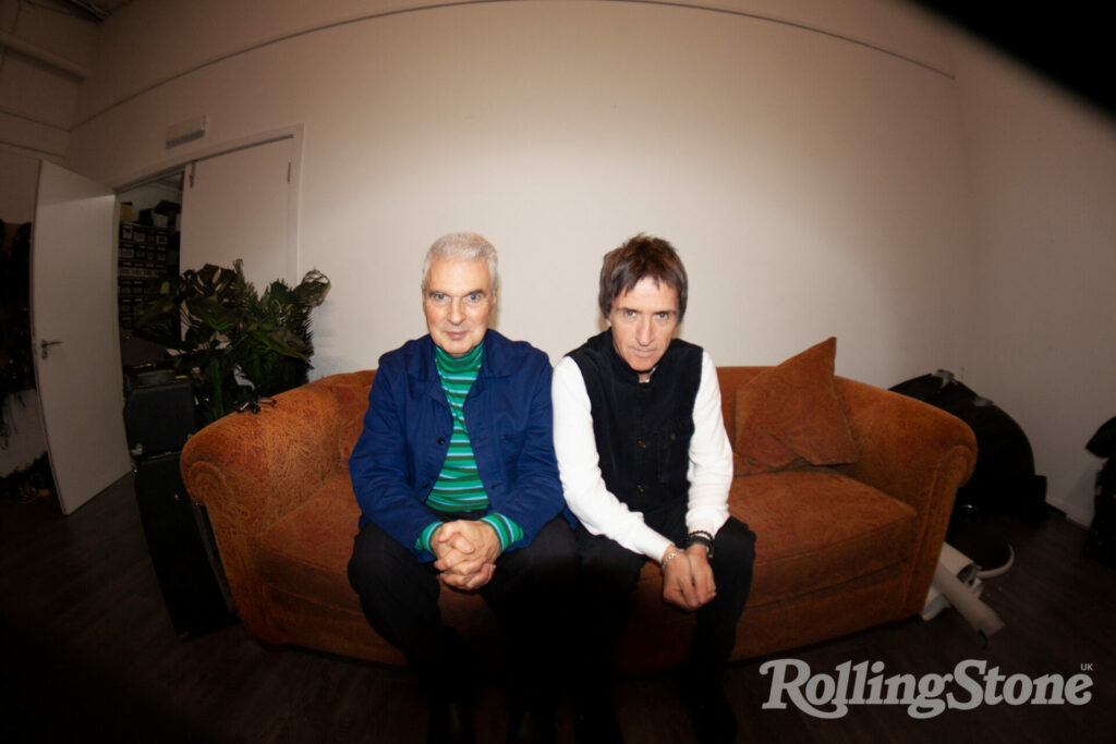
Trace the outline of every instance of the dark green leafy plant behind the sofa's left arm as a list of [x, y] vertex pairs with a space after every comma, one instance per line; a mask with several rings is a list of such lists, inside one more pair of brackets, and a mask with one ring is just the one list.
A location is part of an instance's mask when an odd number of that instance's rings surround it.
[[201, 423], [209, 424], [307, 381], [310, 311], [328, 292], [329, 280], [312, 270], [295, 288], [280, 279], [260, 296], [240, 259], [232, 269], [208, 263], [158, 279], [136, 335], [166, 347], [175, 373], [193, 381]]

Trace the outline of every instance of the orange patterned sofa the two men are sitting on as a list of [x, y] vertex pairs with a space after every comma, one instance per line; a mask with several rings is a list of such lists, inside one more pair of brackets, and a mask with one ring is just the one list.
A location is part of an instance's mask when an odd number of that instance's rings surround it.
[[[719, 368], [734, 447], [742, 441], [738, 419], [750, 416], [738, 390], [752, 389], [775, 369]], [[756, 472], [762, 467], [741, 457], [740, 470], [751, 474], [733, 479], [731, 510], [758, 537], [733, 659], [916, 613], [954, 493], [975, 463], [975, 439], [959, 419], [834, 378], [831, 359], [829, 369], [855, 462], [815, 466], [799, 460]], [[345, 573], [358, 518], [347, 461], [374, 374], [330, 375], [277, 396], [259, 414], [227, 416], [187, 442], [182, 471], [191, 496], [208, 509], [237, 610], [252, 634], [268, 644], [405, 664], [365, 622]], [[633, 598], [620, 673], [663, 669], [685, 658], [692, 616], [665, 606], [660, 583], [657, 567], [648, 563]], [[466, 637], [494, 642], [494, 619], [479, 597], [446, 589], [441, 607]]]

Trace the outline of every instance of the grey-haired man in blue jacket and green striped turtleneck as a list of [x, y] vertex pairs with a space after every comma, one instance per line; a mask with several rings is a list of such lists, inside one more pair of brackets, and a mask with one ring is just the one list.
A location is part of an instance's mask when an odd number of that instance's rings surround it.
[[554, 741], [577, 548], [562, 518], [550, 360], [489, 328], [497, 255], [480, 235], [439, 239], [421, 289], [430, 332], [381, 357], [349, 458], [362, 512], [349, 582], [430, 690], [429, 741], [474, 736], [478, 671], [442, 622], [440, 582], [480, 592], [508, 639], [509, 741]]

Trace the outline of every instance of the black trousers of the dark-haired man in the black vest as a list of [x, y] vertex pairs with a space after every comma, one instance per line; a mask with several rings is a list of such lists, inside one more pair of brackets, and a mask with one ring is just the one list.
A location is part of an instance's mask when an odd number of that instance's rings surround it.
[[[653, 530], [682, 547], [686, 538], [685, 500], [644, 512]], [[604, 535], [577, 528], [581, 549], [581, 579], [577, 607], [585, 671], [585, 704], [605, 704], [608, 699], [616, 644], [627, 617], [628, 600], [647, 558], [622, 548]], [[737, 621], [744, 610], [752, 584], [756, 562], [756, 534], [734, 518], [713, 539], [713, 580], [716, 597], [700, 607], [693, 645], [684, 669], [686, 688], [695, 695], [721, 684], [724, 666], [735, 642]], [[682, 611], [681, 609], [679, 611]]]

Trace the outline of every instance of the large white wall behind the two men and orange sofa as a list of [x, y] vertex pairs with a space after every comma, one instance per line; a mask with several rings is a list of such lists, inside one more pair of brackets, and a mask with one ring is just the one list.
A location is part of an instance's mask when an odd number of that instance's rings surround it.
[[[392, 12], [415, 4], [281, 0], [258, 13], [136, 0], [102, 28], [67, 163], [119, 184], [304, 125], [299, 270], [334, 281], [315, 315], [318, 375], [375, 366], [423, 331], [416, 273], [443, 232], [496, 242], [498, 327], [554, 357], [598, 328], [600, 255], [638, 231], [664, 235], [691, 273], [683, 332], [719, 364], [777, 363], [836, 335], [838, 371], [869, 383], [963, 373], [1020, 421], [1066, 503], [1087, 464], [1057, 443], [1084, 445], [1085, 416], [1047, 416], [1065, 403], [1042, 397], [1055, 365], [1035, 376], [1018, 355], [1058, 346], [1059, 303], [1081, 302], [1078, 280], [1110, 265], [1098, 254], [1112, 244], [1106, 207], [1054, 199], [1112, 173], [1089, 175], [1107, 162], [1103, 124], [1047, 112], [1062, 104], [895, 2]], [[1047, 131], [1064, 141], [1050, 154], [1075, 158], [1051, 166], [1006, 142], [1014, 115], [989, 103], [1001, 94], [1038, 119], [1022, 132]], [[1032, 129], [1037, 112], [1056, 123]], [[169, 126], [202, 114], [203, 139], [164, 148]], [[1009, 166], [1027, 185], [1001, 211]], [[1048, 167], [1059, 183], [1031, 183]], [[1033, 238], [1020, 279], [1022, 213]], [[1086, 231], [1067, 264], [1054, 259], [1062, 242], [1039, 238], [1062, 223]], [[1059, 267], [1058, 299], [1030, 291]], [[1020, 298], [1040, 330], [1030, 339], [1002, 331]], [[1109, 332], [1096, 309], [1070, 313], [1083, 325], [1058, 346], [1065, 366], [1110, 361], [1080, 342]], [[1085, 386], [1079, 405], [1112, 415], [1106, 395]]]

